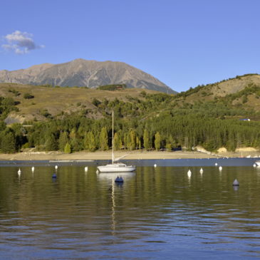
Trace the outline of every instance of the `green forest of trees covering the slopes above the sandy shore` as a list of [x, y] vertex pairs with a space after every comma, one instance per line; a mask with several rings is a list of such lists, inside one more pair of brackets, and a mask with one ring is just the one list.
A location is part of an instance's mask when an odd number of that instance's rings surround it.
[[260, 147], [259, 120], [241, 120], [257, 119], [259, 112], [246, 108], [243, 98], [240, 105], [232, 105], [230, 101], [249, 94], [258, 95], [259, 87], [249, 86], [234, 96], [207, 102], [185, 102], [184, 98], [195, 91], [188, 90], [188, 93], [178, 95], [142, 91], [140, 98], [129, 95], [126, 102], [118, 98], [95, 98], [93, 105], [103, 118], [90, 118], [88, 115], [95, 115], [94, 110], [81, 110], [8, 126], [4, 119], [11, 111], [17, 110], [16, 102], [1, 97], [0, 150], [4, 153], [26, 148], [66, 153], [108, 150], [112, 145], [112, 111], [115, 113], [115, 150], [172, 151], [178, 147], [192, 150], [192, 147], [201, 145], [209, 151], [216, 151], [219, 147], [234, 151], [236, 147]]

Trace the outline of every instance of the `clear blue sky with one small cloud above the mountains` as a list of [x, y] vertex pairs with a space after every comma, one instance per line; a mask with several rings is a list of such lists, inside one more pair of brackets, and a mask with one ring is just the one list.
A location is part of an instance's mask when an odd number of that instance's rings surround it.
[[0, 70], [122, 61], [178, 92], [260, 73], [259, 0], [2, 0]]

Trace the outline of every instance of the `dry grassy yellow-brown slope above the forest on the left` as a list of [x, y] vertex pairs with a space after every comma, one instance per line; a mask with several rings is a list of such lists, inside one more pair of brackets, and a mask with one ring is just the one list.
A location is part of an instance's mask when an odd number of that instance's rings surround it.
[[[131, 98], [142, 98], [142, 89], [127, 88], [108, 91], [89, 88], [50, 88], [46, 86], [21, 85], [16, 83], [0, 83], [0, 96], [13, 98], [19, 111], [12, 112], [6, 123], [24, 123], [29, 120], [46, 120], [67, 113], [85, 113], [88, 118], [102, 118], [102, 111], [93, 105], [93, 100], [114, 100], [118, 98], [127, 102]], [[158, 93], [145, 90], [146, 93]], [[33, 98], [24, 98], [29, 93]]]

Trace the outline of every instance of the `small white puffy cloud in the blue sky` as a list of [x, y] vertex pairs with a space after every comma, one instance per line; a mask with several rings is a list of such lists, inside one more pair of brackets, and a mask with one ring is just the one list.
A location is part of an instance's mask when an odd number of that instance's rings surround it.
[[14, 51], [16, 54], [25, 54], [36, 48], [44, 48], [45, 46], [37, 46], [33, 41], [33, 34], [14, 31], [14, 33], [4, 36], [5, 44], [2, 44], [2, 48], [6, 51]]

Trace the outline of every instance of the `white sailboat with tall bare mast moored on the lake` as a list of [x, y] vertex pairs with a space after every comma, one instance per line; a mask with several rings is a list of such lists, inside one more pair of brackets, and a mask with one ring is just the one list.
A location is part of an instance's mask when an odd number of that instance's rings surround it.
[[122, 162], [115, 162], [117, 160], [118, 159], [115, 159], [114, 157], [114, 111], [113, 111], [112, 112], [112, 163], [110, 165], [98, 166], [98, 171], [99, 172], [133, 172], [135, 170], [135, 166], [125, 165]]

